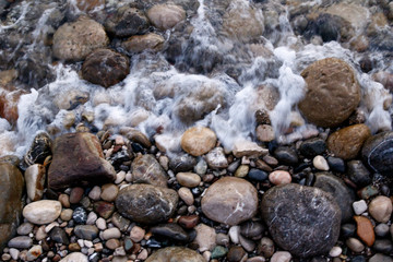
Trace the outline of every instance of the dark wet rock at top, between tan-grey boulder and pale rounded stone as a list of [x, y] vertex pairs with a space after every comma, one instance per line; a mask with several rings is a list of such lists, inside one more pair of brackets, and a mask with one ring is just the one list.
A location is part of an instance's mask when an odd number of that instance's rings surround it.
[[148, 20], [141, 10], [123, 5], [105, 21], [105, 29], [116, 37], [144, 34]]

